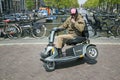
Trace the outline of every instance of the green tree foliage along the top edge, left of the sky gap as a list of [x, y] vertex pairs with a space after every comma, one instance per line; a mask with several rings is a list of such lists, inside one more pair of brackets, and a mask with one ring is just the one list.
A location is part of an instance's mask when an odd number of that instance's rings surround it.
[[[48, 7], [70, 8], [79, 7], [78, 0], [43, 0]], [[25, 0], [28, 10], [35, 8], [35, 0]]]

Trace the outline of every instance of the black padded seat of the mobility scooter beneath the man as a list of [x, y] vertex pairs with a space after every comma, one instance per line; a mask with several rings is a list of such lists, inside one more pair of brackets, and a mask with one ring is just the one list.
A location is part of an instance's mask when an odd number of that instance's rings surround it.
[[76, 37], [74, 39], [69, 39], [66, 41], [66, 44], [67, 45], [76, 45], [78, 43], [82, 43], [82, 42], [85, 42], [87, 40], [86, 37]]

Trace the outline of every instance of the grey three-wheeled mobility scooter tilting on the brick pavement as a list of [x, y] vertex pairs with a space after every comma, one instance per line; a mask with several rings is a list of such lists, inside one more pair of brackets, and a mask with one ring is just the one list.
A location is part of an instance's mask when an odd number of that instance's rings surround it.
[[98, 50], [96, 48], [96, 45], [90, 44], [88, 36], [85, 36], [86, 33], [88, 33], [86, 32], [87, 30], [83, 31], [83, 37], [76, 37], [75, 39], [68, 40], [66, 44], [72, 46], [65, 50], [65, 56], [58, 57], [58, 51], [54, 45], [55, 34], [58, 31], [61, 31], [61, 29], [57, 27], [51, 30], [49, 36], [49, 44], [40, 54], [40, 60], [44, 63], [43, 66], [46, 71], [55, 70], [57, 62], [67, 62], [84, 57], [91, 60], [95, 60], [97, 58]]

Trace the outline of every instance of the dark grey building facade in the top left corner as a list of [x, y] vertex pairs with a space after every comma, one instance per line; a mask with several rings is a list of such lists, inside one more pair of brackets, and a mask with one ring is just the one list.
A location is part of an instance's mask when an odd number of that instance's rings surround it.
[[25, 9], [25, 0], [0, 0], [0, 13], [10, 14]]

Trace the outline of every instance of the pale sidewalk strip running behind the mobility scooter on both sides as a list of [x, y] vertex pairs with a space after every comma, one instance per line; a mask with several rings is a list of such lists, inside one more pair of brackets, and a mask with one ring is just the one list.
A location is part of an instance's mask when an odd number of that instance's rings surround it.
[[[114, 37], [98, 37], [98, 38], [90, 38], [91, 44], [110, 44], [110, 45], [120, 45], [120, 38], [114, 38]], [[20, 39], [0, 39], [0, 46], [2, 45], [23, 45], [23, 44], [48, 44], [48, 38], [20, 38]]]

